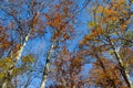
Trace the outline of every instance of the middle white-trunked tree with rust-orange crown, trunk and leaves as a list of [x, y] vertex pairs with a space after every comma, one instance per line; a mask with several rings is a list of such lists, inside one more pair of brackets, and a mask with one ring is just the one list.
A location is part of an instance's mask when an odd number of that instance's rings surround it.
[[[89, 2], [90, 0], [86, 3]], [[75, 1], [61, 0], [59, 1], [59, 3], [53, 6], [52, 10], [50, 10], [51, 13], [45, 14], [45, 18], [48, 20], [47, 25], [52, 28], [53, 34], [51, 36], [51, 46], [50, 51], [48, 52], [45, 67], [43, 69], [41, 88], [45, 87], [47, 77], [50, 70], [50, 59], [52, 57], [52, 53], [55, 51], [55, 47], [59, 47], [59, 45], [57, 45], [57, 42], [65, 42], [66, 40], [72, 38], [71, 34], [74, 32], [72, 25], [74, 22], [74, 16], [84, 8], [83, 7], [81, 10], [76, 11], [75, 7], [78, 7], [75, 4]]]

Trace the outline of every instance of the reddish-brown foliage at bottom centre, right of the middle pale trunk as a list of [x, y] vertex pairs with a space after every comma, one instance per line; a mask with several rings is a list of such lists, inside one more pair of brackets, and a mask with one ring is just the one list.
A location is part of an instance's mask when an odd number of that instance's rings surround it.
[[[51, 72], [49, 77], [54, 79], [54, 84], [58, 87], [79, 87], [83, 88], [85, 81], [82, 79], [82, 65], [83, 58], [80, 57], [76, 53], [71, 54], [66, 47], [60, 51], [57, 55], [57, 58], [52, 61]], [[51, 88], [57, 88], [55, 86]]]

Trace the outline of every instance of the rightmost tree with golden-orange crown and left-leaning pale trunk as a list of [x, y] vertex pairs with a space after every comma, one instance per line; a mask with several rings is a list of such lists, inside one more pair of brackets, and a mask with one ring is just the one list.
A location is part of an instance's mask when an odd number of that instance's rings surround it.
[[[124, 67], [125, 59], [120, 52], [121, 48], [125, 47], [132, 50], [124, 45], [122, 40], [126, 35], [126, 30], [130, 28], [129, 24], [132, 24], [131, 4], [130, 0], [129, 3], [126, 0], [99, 2], [92, 10], [93, 20], [89, 23], [90, 33], [80, 43], [83, 47], [89, 48], [86, 50], [88, 54], [96, 58], [96, 61], [108, 54], [106, 59], [116, 62], [119, 65], [117, 69], [129, 88], [132, 88], [132, 81], [130, 73]], [[132, 41], [126, 42], [131, 43]]]

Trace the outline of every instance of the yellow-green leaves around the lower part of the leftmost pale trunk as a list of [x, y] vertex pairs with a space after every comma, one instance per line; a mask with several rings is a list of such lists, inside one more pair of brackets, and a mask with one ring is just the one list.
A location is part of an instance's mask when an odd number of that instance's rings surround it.
[[[20, 65], [16, 66], [12, 72], [13, 75], [8, 76], [7, 73], [10, 69], [11, 65], [13, 64], [12, 58], [11, 57], [1, 58], [0, 59], [0, 81], [1, 81], [0, 85], [2, 85], [2, 82], [3, 82], [2, 80], [4, 80], [7, 77], [10, 81], [14, 77], [22, 75], [25, 72], [32, 72], [33, 63], [35, 63], [35, 58], [33, 55], [27, 55], [27, 56], [22, 57], [21, 66]], [[11, 82], [9, 82], [9, 85], [11, 85]]]

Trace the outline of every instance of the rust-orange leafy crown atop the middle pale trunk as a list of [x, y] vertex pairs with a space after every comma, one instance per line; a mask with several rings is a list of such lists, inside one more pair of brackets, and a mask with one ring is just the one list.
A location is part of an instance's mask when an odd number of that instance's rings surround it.
[[45, 13], [48, 26], [55, 29], [54, 36], [63, 36], [65, 40], [71, 38], [70, 33], [73, 32], [73, 15], [72, 7], [74, 1], [61, 1], [57, 4], [51, 6], [49, 13]]

